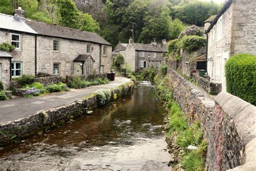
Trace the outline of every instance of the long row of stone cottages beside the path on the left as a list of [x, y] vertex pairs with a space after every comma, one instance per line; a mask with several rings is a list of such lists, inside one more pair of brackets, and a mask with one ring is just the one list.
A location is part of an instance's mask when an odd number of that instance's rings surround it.
[[20, 6], [15, 12], [0, 14], [0, 44], [16, 46], [12, 52], [0, 52], [5, 87], [22, 74], [65, 77], [110, 71], [112, 45], [96, 33], [26, 19]]

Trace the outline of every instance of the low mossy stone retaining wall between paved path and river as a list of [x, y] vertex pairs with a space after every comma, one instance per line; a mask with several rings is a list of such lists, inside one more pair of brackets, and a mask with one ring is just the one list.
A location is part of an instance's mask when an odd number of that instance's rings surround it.
[[[114, 100], [113, 94], [118, 97], [130, 94], [133, 83], [125, 84], [111, 90], [111, 100]], [[67, 121], [79, 115], [87, 114], [87, 110], [93, 110], [98, 107], [96, 95], [83, 100], [70, 102], [69, 104], [52, 108], [46, 111], [39, 111], [22, 119], [18, 119], [7, 124], [0, 125], [0, 146], [8, 145], [11, 142], [20, 141], [34, 134], [42, 134], [52, 127], [63, 125]]]

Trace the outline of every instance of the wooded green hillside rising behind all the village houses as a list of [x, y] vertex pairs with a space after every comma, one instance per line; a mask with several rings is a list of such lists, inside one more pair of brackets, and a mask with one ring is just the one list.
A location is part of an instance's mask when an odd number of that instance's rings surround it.
[[27, 18], [97, 32], [116, 45], [119, 40], [127, 43], [132, 36], [132, 23], [135, 23], [134, 42], [150, 43], [153, 38], [172, 40], [187, 25], [203, 26], [204, 20], [216, 15], [222, 6], [194, 0], [102, 2], [102, 9], [93, 9], [85, 4], [84, 8], [76, 6], [72, 0], [1, 0], [0, 12], [13, 15], [17, 4], [21, 4]]

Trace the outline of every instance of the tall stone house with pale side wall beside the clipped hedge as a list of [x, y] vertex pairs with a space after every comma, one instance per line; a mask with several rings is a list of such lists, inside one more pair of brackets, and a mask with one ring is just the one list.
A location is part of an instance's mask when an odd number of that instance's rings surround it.
[[[218, 15], [206, 22], [207, 73], [226, 91], [225, 63], [238, 53], [256, 54], [256, 1], [228, 0]], [[209, 24], [210, 23], [210, 24]]]

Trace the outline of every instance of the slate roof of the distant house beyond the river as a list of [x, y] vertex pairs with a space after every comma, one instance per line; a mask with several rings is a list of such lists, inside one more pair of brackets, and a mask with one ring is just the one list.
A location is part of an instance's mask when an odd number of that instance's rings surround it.
[[154, 46], [151, 44], [132, 43], [132, 46], [137, 51], [167, 52], [166, 47]]

